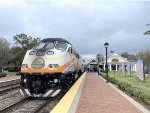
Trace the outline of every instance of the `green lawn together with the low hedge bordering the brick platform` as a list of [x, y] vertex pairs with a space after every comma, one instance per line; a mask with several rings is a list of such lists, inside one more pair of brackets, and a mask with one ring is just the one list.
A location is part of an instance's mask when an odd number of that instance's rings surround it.
[[143, 101], [150, 109], [150, 75], [145, 76], [145, 81], [140, 81], [136, 73], [132, 72], [131, 76], [123, 76], [121, 71], [109, 72], [110, 81], [116, 81], [119, 88], [132, 96]]

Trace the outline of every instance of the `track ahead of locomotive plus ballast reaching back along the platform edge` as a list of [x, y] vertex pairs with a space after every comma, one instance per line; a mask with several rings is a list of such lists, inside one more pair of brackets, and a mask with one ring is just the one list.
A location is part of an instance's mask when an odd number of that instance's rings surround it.
[[45, 111], [45, 107], [47, 107], [46, 111], [48, 112], [53, 109], [53, 106], [59, 102], [69, 88], [54, 98], [23, 98], [18, 102], [1, 108], [0, 113], [41, 113]]

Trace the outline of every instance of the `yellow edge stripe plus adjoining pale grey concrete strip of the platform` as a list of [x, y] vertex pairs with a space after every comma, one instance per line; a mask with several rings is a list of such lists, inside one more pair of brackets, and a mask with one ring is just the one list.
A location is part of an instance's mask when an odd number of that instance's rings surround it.
[[50, 113], [75, 113], [86, 73], [84, 73]]

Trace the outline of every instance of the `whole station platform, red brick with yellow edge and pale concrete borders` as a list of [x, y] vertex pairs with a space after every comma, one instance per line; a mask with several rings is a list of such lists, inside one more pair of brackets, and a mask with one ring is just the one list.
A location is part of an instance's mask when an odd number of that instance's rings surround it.
[[150, 113], [97, 73], [84, 73], [50, 113]]

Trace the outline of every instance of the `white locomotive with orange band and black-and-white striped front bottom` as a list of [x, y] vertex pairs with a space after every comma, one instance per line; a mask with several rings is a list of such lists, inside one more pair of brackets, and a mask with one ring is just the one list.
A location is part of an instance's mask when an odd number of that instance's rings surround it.
[[28, 50], [22, 62], [20, 93], [54, 97], [84, 71], [82, 58], [63, 38], [46, 38]]

